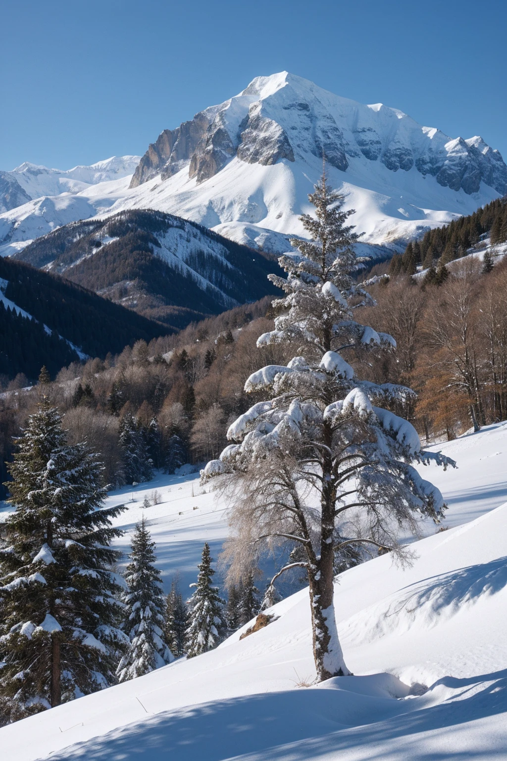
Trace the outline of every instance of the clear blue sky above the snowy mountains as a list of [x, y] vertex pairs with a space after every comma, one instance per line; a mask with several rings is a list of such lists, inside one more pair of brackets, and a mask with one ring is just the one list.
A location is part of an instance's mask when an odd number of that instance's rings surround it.
[[142, 154], [287, 69], [507, 161], [505, 0], [4, 0], [0, 168]]

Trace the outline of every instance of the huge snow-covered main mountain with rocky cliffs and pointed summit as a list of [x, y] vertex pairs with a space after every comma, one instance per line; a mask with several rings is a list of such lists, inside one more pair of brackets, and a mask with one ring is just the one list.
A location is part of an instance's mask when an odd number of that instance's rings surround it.
[[27, 202], [8, 189], [11, 204], [21, 205], [0, 215], [0, 253], [69, 221], [124, 209], [170, 212], [278, 253], [290, 235], [304, 234], [298, 217], [309, 210], [323, 153], [329, 180], [356, 209], [353, 221], [372, 253], [399, 250], [507, 189], [502, 156], [480, 137], [452, 139], [395, 108], [356, 103], [281, 72], [164, 129], [132, 167], [132, 179], [108, 176], [35, 200], [20, 184]]

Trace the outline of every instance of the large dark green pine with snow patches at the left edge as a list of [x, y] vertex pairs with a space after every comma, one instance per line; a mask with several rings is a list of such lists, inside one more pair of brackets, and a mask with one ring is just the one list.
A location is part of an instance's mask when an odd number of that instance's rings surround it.
[[27, 421], [8, 465], [14, 512], [0, 549], [0, 713], [15, 721], [115, 683], [122, 587], [109, 543], [122, 531], [102, 509], [103, 466], [68, 446], [46, 403]]

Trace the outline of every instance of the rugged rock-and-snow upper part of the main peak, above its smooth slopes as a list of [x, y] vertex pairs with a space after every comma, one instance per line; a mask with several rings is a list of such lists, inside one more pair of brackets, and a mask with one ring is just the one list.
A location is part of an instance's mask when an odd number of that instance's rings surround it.
[[268, 166], [306, 161], [309, 154], [325, 155], [343, 172], [351, 161], [366, 158], [392, 172], [415, 167], [468, 195], [481, 182], [502, 195], [507, 191], [507, 166], [481, 138], [449, 139], [382, 103], [363, 106], [287, 72], [255, 78], [239, 95], [164, 130], [141, 159], [131, 187], [159, 172], [164, 180], [187, 164], [189, 177], [202, 183], [234, 156]]

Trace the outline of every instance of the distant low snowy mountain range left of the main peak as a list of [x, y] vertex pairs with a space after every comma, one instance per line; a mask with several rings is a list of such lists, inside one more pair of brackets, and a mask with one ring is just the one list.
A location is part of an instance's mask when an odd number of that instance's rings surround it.
[[139, 156], [112, 156], [89, 167], [48, 169], [25, 161], [11, 172], [0, 171], [0, 211], [8, 212], [16, 206], [42, 196], [59, 196], [61, 193], [79, 193], [90, 185], [128, 177], [138, 166]]

